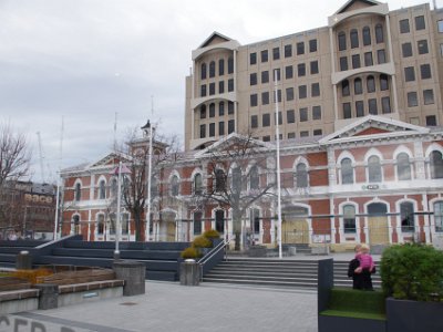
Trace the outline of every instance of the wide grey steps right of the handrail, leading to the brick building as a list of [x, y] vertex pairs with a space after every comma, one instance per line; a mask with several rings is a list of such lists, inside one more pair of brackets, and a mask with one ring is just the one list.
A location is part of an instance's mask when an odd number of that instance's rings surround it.
[[[317, 260], [278, 260], [235, 258], [225, 260], [203, 278], [204, 282], [219, 282], [269, 288], [317, 289]], [[334, 286], [352, 287], [348, 278], [348, 262], [334, 262]], [[373, 278], [380, 288], [380, 276]]]

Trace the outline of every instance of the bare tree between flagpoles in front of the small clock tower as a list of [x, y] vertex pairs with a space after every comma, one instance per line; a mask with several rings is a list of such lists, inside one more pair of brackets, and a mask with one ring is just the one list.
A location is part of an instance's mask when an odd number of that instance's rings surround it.
[[[123, 200], [131, 211], [135, 224], [136, 241], [144, 240], [145, 209], [147, 203], [147, 174], [150, 157], [150, 131], [143, 137], [138, 137], [138, 129], [128, 131], [127, 138], [121, 147], [127, 155], [127, 167], [131, 173], [126, 175], [123, 185]], [[159, 136], [153, 131], [153, 155], [151, 177], [158, 177], [163, 163], [178, 158], [178, 139], [176, 136]]]

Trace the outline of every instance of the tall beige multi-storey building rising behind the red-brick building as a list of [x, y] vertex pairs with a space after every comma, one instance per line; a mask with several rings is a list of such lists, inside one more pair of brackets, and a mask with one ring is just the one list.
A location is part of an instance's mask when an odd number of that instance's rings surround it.
[[233, 132], [274, 141], [276, 96], [282, 138], [328, 135], [368, 114], [441, 125], [442, 69], [443, 10], [427, 3], [390, 11], [351, 0], [327, 27], [247, 45], [215, 32], [193, 51], [185, 148]]

